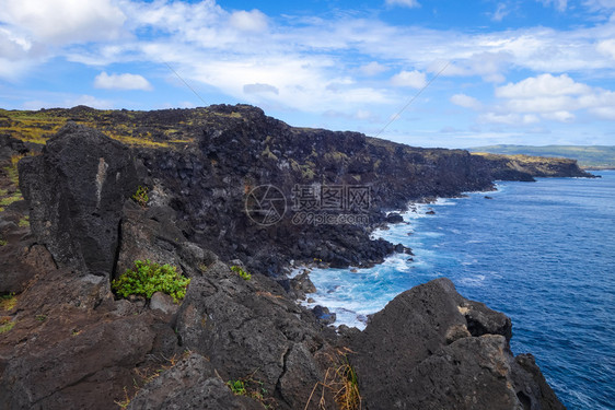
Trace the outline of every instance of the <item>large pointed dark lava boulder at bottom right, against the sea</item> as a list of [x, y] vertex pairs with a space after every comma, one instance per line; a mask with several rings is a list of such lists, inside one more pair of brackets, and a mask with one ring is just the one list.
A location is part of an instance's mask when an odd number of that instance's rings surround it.
[[365, 408], [564, 408], [539, 370], [512, 355], [510, 337], [506, 315], [465, 300], [448, 279], [406, 291], [351, 338]]

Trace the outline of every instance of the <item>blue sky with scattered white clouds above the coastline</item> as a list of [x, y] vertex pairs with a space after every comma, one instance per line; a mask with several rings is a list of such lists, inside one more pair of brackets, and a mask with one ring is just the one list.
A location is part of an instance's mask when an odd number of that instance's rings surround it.
[[0, 0], [0, 107], [252, 104], [420, 147], [615, 145], [615, 0]]

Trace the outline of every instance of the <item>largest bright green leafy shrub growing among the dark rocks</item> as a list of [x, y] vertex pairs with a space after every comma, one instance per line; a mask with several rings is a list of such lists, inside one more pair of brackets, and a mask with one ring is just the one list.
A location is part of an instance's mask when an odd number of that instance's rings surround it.
[[151, 298], [155, 292], [163, 292], [177, 303], [186, 296], [190, 279], [179, 274], [171, 265], [160, 265], [148, 260], [136, 260], [132, 269], [112, 282], [112, 288], [123, 297], [130, 295]]

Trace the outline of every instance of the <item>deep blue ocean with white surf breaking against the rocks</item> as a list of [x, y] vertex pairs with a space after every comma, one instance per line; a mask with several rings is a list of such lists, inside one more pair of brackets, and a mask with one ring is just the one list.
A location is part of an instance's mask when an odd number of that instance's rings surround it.
[[418, 206], [404, 215], [409, 224], [376, 233], [411, 247], [414, 261], [314, 270], [314, 304], [335, 312], [336, 325], [363, 328], [398, 293], [448, 277], [465, 297], [511, 317], [513, 352], [535, 355], [569, 409], [613, 409], [615, 171], [596, 174], [500, 183]]

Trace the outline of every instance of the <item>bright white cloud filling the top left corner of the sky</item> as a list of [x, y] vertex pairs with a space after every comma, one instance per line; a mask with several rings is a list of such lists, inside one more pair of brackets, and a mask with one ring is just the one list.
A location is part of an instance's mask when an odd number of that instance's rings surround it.
[[0, 21], [48, 44], [117, 38], [126, 15], [111, 0], [2, 0]]

